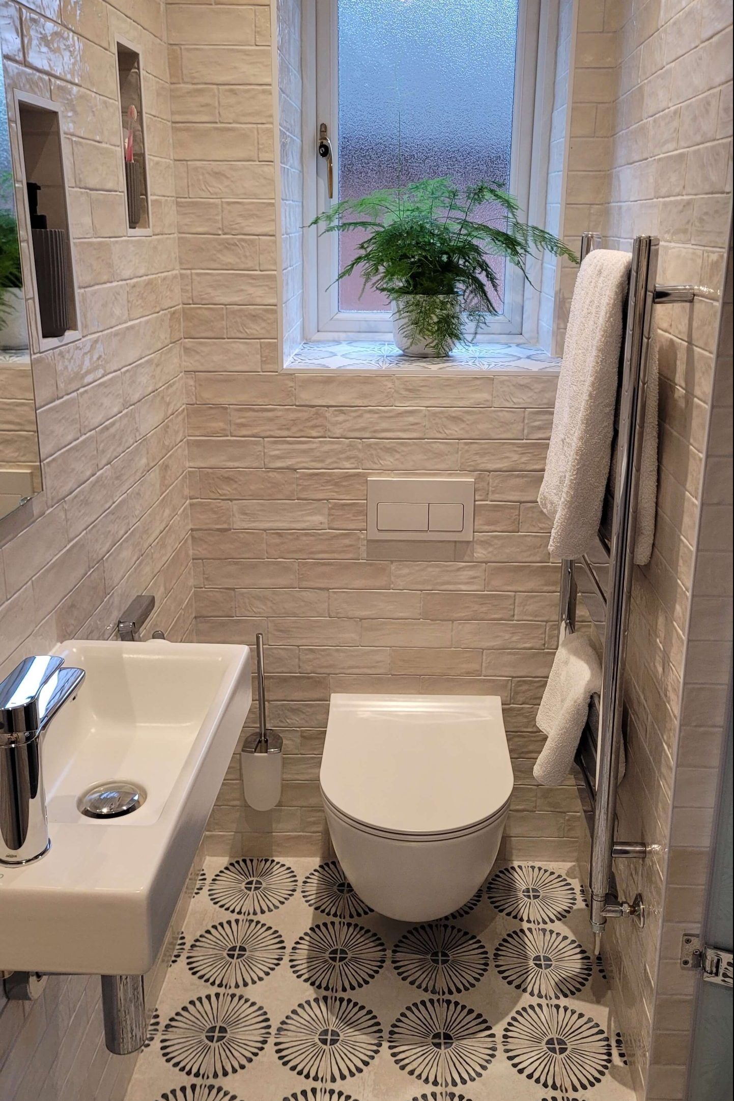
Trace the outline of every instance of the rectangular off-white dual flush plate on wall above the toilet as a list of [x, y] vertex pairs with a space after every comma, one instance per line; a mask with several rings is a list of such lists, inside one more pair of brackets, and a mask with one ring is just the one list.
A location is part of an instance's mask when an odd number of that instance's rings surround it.
[[473, 537], [473, 478], [368, 478], [369, 539]]

